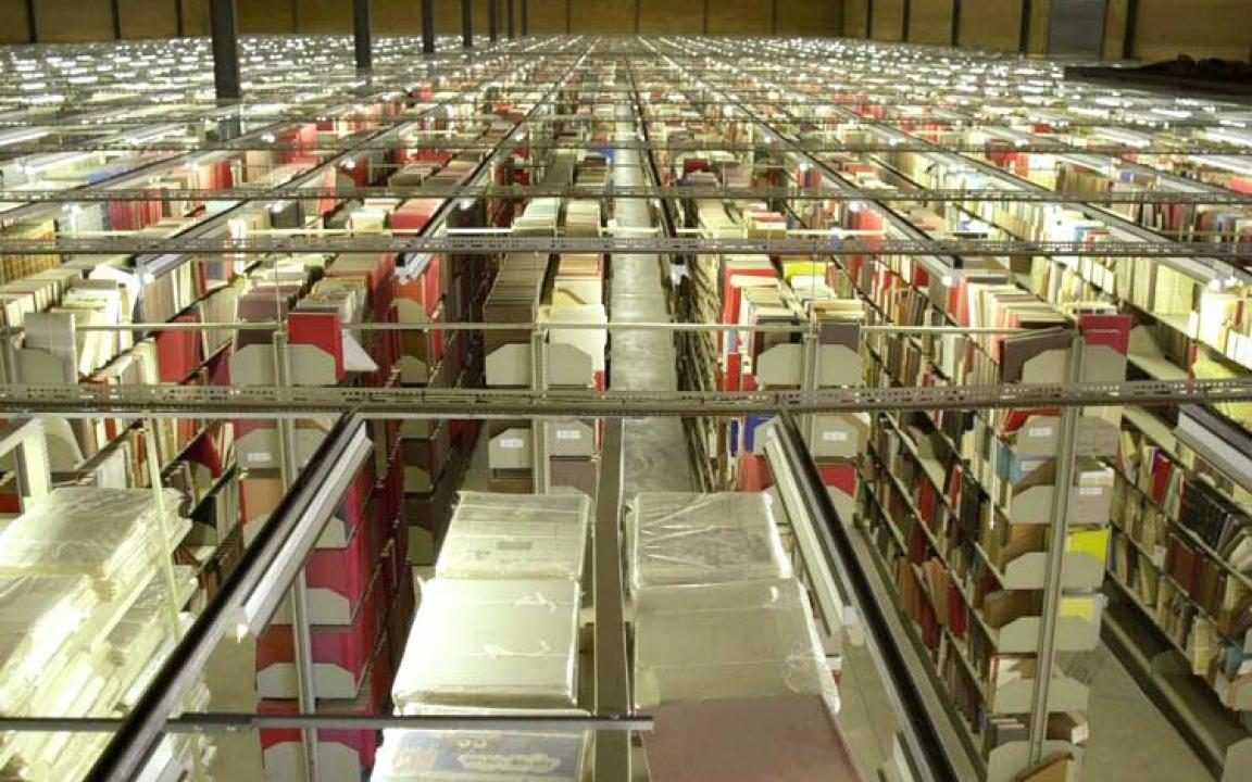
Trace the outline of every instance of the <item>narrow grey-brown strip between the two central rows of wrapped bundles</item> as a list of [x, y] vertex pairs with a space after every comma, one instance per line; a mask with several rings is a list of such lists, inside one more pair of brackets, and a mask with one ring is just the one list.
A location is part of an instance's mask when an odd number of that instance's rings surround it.
[[[605, 422], [600, 488], [596, 493], [595, 534], [591, 536], [592, 597], [595, 602], [595, 704], [597, 714], [630, 713], [626, 621], [622, 616], [621, 508], [622, 429], [625, 422]], [[601, 731], [596, 734], [597, 782], [627, 782], [630, 734]]]

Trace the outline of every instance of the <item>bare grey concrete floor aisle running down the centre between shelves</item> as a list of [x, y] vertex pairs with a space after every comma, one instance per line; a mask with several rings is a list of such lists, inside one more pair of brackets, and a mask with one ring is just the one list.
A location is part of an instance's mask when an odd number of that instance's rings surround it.
[[[621, 108], [627, 111], [627, 106]], [[634, 123], [618, 123], [618, 138], [634, 138]], [[639, 153], [618, 149], [613, 183], [645, 183]], [[647, 201], [617, 199], [613, 214], [620, 228], [652, 228]], [[670, 320], [661, 265], [655, 255], [615, 255], [608, 292], [610, 320], [641, 323]], [[677, 388], [677, 359], [674, 338], [665, 332], [615, 332], [610, 348], [613, 390], [674, 390]], [[625, 464], [623, 499], [639, 492], [692, 492], [695, 477], [677, 418], [626, 422], [622, 443]]]

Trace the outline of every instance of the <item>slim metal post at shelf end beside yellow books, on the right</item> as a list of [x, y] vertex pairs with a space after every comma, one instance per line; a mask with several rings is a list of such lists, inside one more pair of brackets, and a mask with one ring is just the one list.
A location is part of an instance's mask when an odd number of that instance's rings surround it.
[[[1075, 332], [1069, 347], [1070, 383], [1078, 383], [1083, 374], [1083, 338]], [[1057, 438], [1057, 483], [1052, 494], [1052, 543], [1044, 564], [1043, 617], [1039, 622], [1039, 646], [1035, 653], [1034, 692], [1030, 698], [1030, 744], [1027, 768], [1043, 761], [1044, 741], [1048, 737], [1048, 691], [1055, 663], [1057, 622], [1060, 616], [1062, 564], [1065, 559], [1065, 542], [1069, 539], [1069, 495], [1074, 482], [1074, 460], [1078, 442], [1078, 417], [1082, 408], [1067, 407], [1060, 412], [1060, 433]]]

